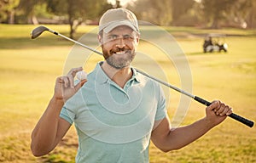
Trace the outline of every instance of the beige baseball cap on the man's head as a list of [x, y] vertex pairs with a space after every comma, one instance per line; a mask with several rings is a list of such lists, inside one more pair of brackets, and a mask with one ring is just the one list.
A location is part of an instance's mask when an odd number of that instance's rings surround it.
[[112, 31], [113, 28], [120, 25], [126, 25], [131, 27], [134, 31], [139, 31], [135, 14], [126, 8], [108, 9], [108, 11], [102, 15], [99, 23], [99, 31], [103, 30], [105, 33], [108, 33]]

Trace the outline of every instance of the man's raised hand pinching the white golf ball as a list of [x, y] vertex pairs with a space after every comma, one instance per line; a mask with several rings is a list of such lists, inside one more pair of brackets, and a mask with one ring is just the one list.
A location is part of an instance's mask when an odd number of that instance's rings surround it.
[[79, 88], [82, 87], [85, 82], [87, 82], [85, 79], [80, 81], [77, 85], [74, 85], [74, 77], [80, 70], [83, 70], [83, 68], [73, 68], [67, 73], [66, 76], [57, 77], [55, 82], [55, 94], [53, 98], [61, 100], [65, 103], [68, 98], [71, 98], [79, 91]]

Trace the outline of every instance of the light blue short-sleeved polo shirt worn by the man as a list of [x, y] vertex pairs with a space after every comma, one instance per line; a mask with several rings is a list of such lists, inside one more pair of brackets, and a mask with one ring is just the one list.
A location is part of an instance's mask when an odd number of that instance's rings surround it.
[[76, 162], [148, 162], [154, 121], [166, 116], [164, 93], [133, 68], [131, 79], [119, 87], [100, 65], [61, 110], [61, 118], [78, 132]]

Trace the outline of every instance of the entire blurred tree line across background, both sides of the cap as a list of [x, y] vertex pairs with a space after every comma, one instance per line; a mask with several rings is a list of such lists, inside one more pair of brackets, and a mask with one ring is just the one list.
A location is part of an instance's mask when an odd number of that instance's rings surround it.
[[[118, 7], [119, 0], [0, 0], [0, 23], [69, 24], [73, 37], [79, 25], [97, 24], [108, 8]], [[256, 27], [253, 0], [133, 0], [124, 7], [155, 25]]]

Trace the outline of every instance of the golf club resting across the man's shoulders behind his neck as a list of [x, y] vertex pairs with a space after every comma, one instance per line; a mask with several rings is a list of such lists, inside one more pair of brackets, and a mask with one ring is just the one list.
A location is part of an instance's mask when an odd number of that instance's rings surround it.
[[[59, 32], [57, 31], [53, 31], [53, 30], [50, 30], [49, 28], [45, 27], [45, 26], [38, 26], [37, 28], [35, 28], [32, 32], [31, 32], [31, 35], [32, 35], [32, 39], [34, 38], [37, 38], [39, 37], [44, 31], [49, 31], [57, 36], [60, 36], [60, 37], [63, 37], [65, 39], [67, 39], [68, 41], [71, 41], [71, 42], [74, 42], [76, 44], [79, 44], [80, 46], [84, 47], [84, 48], [87, 48], [89, 50], [91, 50], [92, 52], [95, 52], [97, 54], [100, 54], [102, 55], [102, 53], [96, 51], [96, 49], [93, 49], [93, 48], [90, 48], [86, 45], [84, 45], [83, 43], [81, 42], [77, 42], [69, 37], [66, 37], [64, 35], [61, 35]], [[136, 69], [137, 70], [137, 69]], [[185, 94], [186, 96], [189, 96], [190, 98], [193, 98], [195, 99], [195, 101], [201, 103], [201, 104], [204, 104], [206, 106], [209, 106], [211, 103], [208, 102], [207, 100], [203, 99], [203, 98], [200, 98], [198, 96], [195, 96], [193, 94], [190, 94], [190, 93], [187, 93], [185, 91], [183, 91], [182, 89], [178, 88], [178, 87], [175, 87], [175, 86], [172, 86], [171, 84], [167, 83], [167, 82], [163, 82], [159, 79], [157, 79], [156, 77], [154, 76], [149, 76], [147, 73], [143, 72], [142, 70], [137, 70], [138, 73], [142, 74], [143, 76], [147, 76], [148, 78], [154, 80], [155, 82], [159, 82], [160, 84], [162, 85], [165, 85], [166, 87], [170, 87], [172, 88], [173, 90], [179, 92], [179, 93], [183, 93]], [[236, 115], [235, 113], [232, 113], [231, 115], [229, 115], [231, 118], [233, 118], [234, 120], [236, 121], [240, 121], [241, 123], [247, 125], [247, 126], [250, 126], [250, 127], [253, 127], [254, 125], [254, 122], [253, 121], [250, 121], [250, 120], [247, 120], [246, 118], [244, 117], [241, 117], [240, 115]]]

